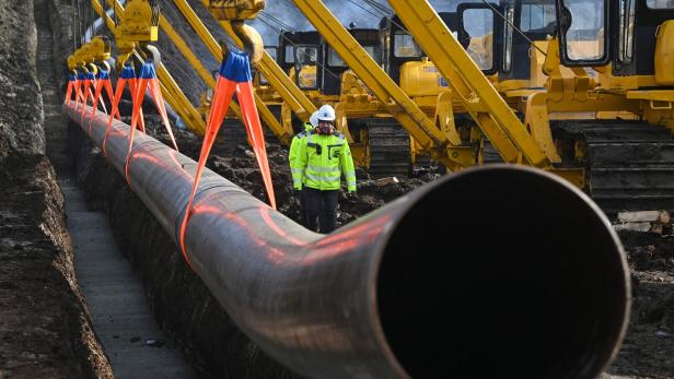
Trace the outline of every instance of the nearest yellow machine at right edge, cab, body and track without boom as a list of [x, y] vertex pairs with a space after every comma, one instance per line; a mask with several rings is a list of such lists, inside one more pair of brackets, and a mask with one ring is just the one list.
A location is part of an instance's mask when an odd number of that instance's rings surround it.
[[562, 162], [585, 169], [606, 210], [674, 209], [674, 2], [557, 0], [556, 11], [558, 54], [547, 63], [578, 75], [550, 70], [531, 103], [548, 112], [601, 103], [588, 109], [599, 120], [553, 121]]

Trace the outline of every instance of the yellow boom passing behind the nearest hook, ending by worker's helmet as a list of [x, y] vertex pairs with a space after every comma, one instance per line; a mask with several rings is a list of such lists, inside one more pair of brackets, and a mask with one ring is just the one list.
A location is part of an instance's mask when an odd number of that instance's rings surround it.
[[[216, 58], [216, 60], [222, 61], [222, 48], [220, 47], [213, 35], [208, 31], [208, 28], [206, 28], [206, 25], [204, 25], [199, 16], [195, 13], [195, 11], [187, 3], [187, 1], [174, 0], [174, 3], [178, 8], [181, 13], [183, 13], [189, 25], [191, 25], [194, 31], [197, 33], [204, 45], [206, 45], [208, 50]], [[232, 103], [232, 105], [235, 104]], [[259, 116], [263, 121], [265, 121], [267, 127], [271, 129], [271, 131], [278, 137], [278, 139], [283, 143], [290, 143], [293, 135], [292, 130], [288, 131], [283, 129], [279, 120], [274, 116], [271, 110], [267, 108], [267, 106], [265, 105], [263, 99], [259, 98], [259, 95], [257, 95], [257, 93], [255, 93], [255, 105], [257, 106], [257, 110], [259, 111]]]

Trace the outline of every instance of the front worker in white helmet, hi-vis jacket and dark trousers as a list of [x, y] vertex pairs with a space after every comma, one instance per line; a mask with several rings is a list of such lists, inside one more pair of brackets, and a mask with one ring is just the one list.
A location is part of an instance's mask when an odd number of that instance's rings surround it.
[[318, 109], [318, 126], [300, 141], [293, 163], [293, 181], [306, 197], [306, 227], [321, 233], [337, 228], [337, 201], [341, 175], [347, 192], [356, 196], [356, 170], [351, 150], [345, 135], [335, 129], [335, 109], [324, 105]]

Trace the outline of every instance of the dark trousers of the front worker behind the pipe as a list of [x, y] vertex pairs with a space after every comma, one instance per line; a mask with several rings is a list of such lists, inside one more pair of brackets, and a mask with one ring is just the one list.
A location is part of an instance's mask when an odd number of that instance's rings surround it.
[[321, 225], [321, 233], [328, 234], [337, 228], [337, 203], [339, 190], [317, 190], [304, 187], [306, 197], [306, 228], [318, 232], [316, 218]]

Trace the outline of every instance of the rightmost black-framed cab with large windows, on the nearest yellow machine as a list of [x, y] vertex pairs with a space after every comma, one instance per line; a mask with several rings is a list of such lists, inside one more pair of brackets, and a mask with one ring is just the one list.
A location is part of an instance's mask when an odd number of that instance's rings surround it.
[[[557, 16], [565, 66], [612, 63], [613, 76], [641, 78], [636, 81], [638, 87], [674, 84], [674, 1], [558, 0]], [[579, 42], [584, 42], [584, 49], [578, 48]], [[652, 82], [643, 80], [646, 76]]]

